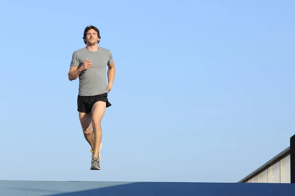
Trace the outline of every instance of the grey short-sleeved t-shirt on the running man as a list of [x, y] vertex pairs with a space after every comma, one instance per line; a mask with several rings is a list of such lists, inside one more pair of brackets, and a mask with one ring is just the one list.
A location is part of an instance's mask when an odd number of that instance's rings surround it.
[[101, 48], [97, 51], [89, 51], [86, 47], [73, 52], [70, 66], [83, 65], [85, 60], [92, 60], [92, 67], [79, 74], [79, 95], [94, 96], [108, 93], [106, 68], [113, 61], [112, 52]]

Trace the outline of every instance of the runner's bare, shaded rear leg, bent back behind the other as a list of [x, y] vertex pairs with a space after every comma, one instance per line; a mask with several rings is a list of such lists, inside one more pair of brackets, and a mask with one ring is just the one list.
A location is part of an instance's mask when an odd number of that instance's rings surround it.
[[91, 149], [93, 149], [93, 141], [92, 141], [92, 114], [86, 114], [79, 112], [79, 119], [82, 126], [83, 134], [86, 141], [89, 143]]

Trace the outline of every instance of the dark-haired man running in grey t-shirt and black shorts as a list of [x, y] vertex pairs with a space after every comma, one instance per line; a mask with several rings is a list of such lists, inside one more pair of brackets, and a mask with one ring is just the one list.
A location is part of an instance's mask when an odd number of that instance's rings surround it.
[[115, 78], [112, 52], [98, 47], [100, 38], [100, 32], [95, 26], [89, 25], [85, 28], [83, 40], [86, 47], [73, 52], [68, 73], [70, 81], [79, 77], [77, 110], [84, 137], [91, 147], [90, 170], [100, 170], [101, 120], [106, 108], [112, 105], [108, 101], [108, 93]]

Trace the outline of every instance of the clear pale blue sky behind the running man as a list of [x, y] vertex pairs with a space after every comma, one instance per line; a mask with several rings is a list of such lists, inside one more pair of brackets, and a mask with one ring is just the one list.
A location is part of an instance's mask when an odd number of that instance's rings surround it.
[[[1, 3], [0, 179], [236, 182], [295, 134], [295, 2]], [[101, 171], [67, 73], [95, 25], [116, 78]]]

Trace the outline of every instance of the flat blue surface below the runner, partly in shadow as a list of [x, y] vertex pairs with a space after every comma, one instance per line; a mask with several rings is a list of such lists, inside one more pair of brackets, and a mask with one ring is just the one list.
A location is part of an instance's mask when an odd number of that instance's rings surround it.
[[0, 196], [294, 196], [295, 184], [0, 180]]

